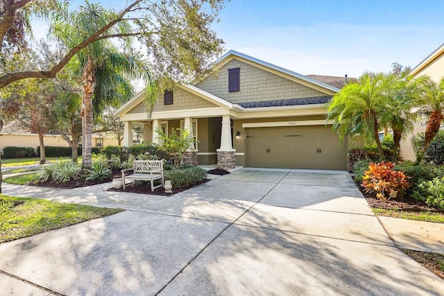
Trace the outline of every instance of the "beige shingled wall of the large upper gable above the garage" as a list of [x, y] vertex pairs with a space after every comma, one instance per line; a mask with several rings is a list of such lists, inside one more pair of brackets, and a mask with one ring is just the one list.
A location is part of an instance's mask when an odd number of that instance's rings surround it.
[[[240, 91], [228, 92], [228, 69], [240, 68]], [[196, 87], [231, 103], [249, 103], [287, 98], [327, 96], [323, 92], [287, 78], [259, 69], [239, 60], [231, 60], [219, 69], [216, 76], [208, 76]]]

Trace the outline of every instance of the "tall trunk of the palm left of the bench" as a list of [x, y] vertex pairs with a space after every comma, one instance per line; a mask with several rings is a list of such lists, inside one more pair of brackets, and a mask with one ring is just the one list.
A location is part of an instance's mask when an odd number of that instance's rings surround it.
[[84, 105], [83, 110], [83, 157], [82, 164], [84, 168], [90, 168], [92, 164], [92, 94], [96, 87], [96, 78], [94, 77], [94, 64], [89, 58], [82, 73], [83, 94], [82, 101]]

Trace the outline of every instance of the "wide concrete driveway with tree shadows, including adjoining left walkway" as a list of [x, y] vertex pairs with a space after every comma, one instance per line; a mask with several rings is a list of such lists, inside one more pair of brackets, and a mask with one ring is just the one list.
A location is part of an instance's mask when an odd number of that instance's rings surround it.
[[1, 244], [0, 295], [444, 294], [344, 171], [243, 168], [167, 198], [98, 189], [35, 193], [128, 211]]

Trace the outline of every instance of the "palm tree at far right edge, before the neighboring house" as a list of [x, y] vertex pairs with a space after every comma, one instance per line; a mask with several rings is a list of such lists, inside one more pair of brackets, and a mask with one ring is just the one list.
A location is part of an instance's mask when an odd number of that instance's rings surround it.
[[421, 81], [422, 100], [420, 112], [428, 116], [425, 129], [424, 150], [436, 136], [439, 127], [444, 120], [444, 78], [436, 83], [429, 77], [423, 77]]

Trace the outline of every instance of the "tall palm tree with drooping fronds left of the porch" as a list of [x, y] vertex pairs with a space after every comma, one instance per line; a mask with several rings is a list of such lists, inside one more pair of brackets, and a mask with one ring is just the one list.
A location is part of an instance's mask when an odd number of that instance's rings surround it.
[[[52, 19], [53, 35], [71, 48], [73, 44], [84, 40], [99, 28], [108, 24], [113, 15], [98, 3], [91, 4], [85, 1], [78, 12], [72, 13], [67, 9], [63, 14]], [[120, 22], [112, 27], [109, 34], [130, 33], [130, 26]], [[130, 40], [122, 38], [122, 45], [130, 51]], [[93, 102], [96, 111], [100, 110], [110, 98], [115, 99], [112, 93], [119, 92], [121, 100], [128, 101], [133, 96], [128, 78], [144, 78], [147, 85], [152, 85], [148, 65], [140, 60], [139, 55], [119, 53], [118, 49], [109, 40], [99, 40], [89, 44], [77, 54], [81, 69], [82, 88], [82, 130], [83, 130], [83, 167], [90, 167], [92, 163], [92, 124]], [[150, 87], [147, 87], [150, 90]], [[148, 98], [153, 98], [151, 93]], [[94, 99], [93, 99], [94, 98]]]

